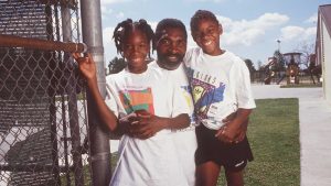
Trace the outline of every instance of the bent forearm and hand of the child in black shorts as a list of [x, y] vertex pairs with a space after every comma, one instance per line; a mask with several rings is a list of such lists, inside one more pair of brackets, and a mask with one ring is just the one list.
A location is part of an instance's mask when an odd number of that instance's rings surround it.
[[224, 142], [232, 143], [239, 141], [243, 136], [243, 131], [247, 129], [248, 117], [252, 109], [238, 109], [236, 117], [222, 127], [215, 136]]

